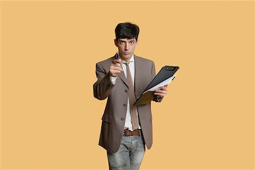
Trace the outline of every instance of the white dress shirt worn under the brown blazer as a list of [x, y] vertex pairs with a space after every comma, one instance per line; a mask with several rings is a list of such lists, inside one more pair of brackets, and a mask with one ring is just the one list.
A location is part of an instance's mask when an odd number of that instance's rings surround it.
[[[121, 59], [122, 60], [122, 59]], [[134, 74], [135, 74], [135, 64], [134, 64], [134, 55], [131, 56], [131, 59], [129, 60], [129, 68], [130, 68], [130, 72], [131, 72], [131, 78], [133, 79], [133, 86], [134, 86]], [[125, 77], [127, 77], [127, 73], [126, 73], [126, 65], [125, 65], [125, 60], [122, 60], [122, 69], [123, 69], [123, 73], [125, 73]], [[117, 77], [112, 77], [110, 76], [110, 80], [112, 81], [113, 84], [115, 84], [115, 82], [117, 82]], [[138, 117], [138, 110], [136, 109], [137, 112], [137, 117]], [[139, 118], [138, 118], [139, 120]], [[127, 110], [126, 110], [126, 119], [125, 119], [125, 128], [128, 128], [128, 130], [133, 131], [133, 124], [131, 123], [131, 114], [130, 114], [130, 103], [129, 103], [129, 98], [127, 101]], [[141, 129], [141, 126], [139, 126], [139, 129]]]

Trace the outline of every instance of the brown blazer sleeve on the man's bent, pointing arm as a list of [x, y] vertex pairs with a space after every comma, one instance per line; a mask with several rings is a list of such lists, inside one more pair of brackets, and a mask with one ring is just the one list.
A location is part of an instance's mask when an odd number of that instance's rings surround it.
[[106, 72], [99, 63], [96, 64], [96, 76], [98, 80], [93, 84], [93, 95], [97, 99], [105, 99], [114, 88], [110, 81], [110, 74]]

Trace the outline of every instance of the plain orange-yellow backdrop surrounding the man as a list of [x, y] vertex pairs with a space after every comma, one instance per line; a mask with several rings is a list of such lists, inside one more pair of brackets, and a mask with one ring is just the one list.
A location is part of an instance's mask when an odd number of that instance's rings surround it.
[[1, 1], [1, 169], [108, 169], [95, 64], [114, 28], [180, 70], [141, 169], [254, 169], [254, 1]]

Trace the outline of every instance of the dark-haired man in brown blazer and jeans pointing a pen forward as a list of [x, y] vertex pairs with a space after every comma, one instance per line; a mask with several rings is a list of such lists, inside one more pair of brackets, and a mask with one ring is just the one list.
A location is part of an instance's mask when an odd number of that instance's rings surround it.
[[[99, 144], [107, 150], [109, 169], [139, 169], [145, 144], [152, 146], [151, 104], [133, 106], [155, 77], [154, 62], [134, 55], [138, 35], [137, 25], [119, 23], [114, 43], [121, 59], [115, 55], [96, 64], [94, 97], [108, 98]], [[156, 90], [154, 101], [160, 102], [166, 93], [167, 86]]]

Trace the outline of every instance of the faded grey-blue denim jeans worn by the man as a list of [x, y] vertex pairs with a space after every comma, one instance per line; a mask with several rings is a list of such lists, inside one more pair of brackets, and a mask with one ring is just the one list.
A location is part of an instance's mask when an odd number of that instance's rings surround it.
[[123, 136], [119, 150], [108, 153], [110, 170], [138, 170], [145, 152], [142, 136]]

